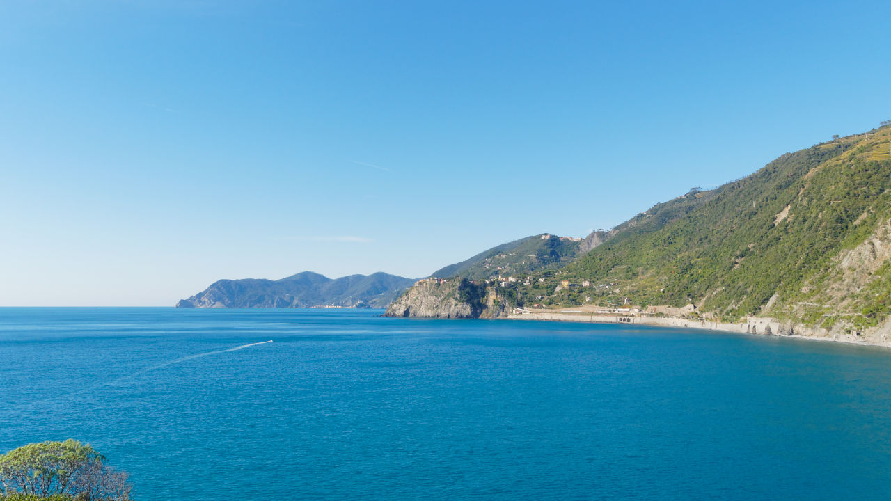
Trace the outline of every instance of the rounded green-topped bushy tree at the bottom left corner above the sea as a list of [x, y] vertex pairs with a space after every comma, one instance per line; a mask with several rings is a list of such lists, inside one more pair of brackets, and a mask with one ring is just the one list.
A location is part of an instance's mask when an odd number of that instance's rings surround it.
[[127, 473], [77, 440], [46, 441], [12, 449], [0, 456], [2, 497], [54, 497], [77, 501], [126, 501]]

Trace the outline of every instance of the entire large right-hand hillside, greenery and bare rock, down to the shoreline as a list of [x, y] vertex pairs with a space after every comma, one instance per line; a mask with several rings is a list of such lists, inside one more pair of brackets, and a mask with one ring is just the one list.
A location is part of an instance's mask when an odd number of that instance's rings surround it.
[[[882, 127], [786, 153], [707, 193], [674, 221], [625, 231], [545, 283], [520, 287], [519, 300], [627, 297], [642, 305], [692, 302], [734, 320], [770, 313], [807, 324], [876, 324], [891, 313], [891, 265], [879, 259], [891, 218], [889, 145], [891, 127]], [[554, 293], [562, 280], [590, 285]]]

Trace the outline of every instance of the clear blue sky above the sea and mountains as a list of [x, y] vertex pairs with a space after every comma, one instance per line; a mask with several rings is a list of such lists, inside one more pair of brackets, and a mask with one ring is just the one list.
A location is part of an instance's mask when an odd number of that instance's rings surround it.
[[891, 119], [891, 3], [0, 3], [0, 306], [429, 275]]

